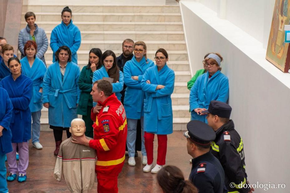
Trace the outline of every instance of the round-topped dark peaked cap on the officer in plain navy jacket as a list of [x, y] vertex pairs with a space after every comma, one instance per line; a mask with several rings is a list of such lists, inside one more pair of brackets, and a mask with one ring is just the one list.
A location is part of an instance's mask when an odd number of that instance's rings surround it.
[[191, 120], [186, 127], [188, 131], [184, 132], [183, 135], [196, 144], [208, 145], [215, 140], [215, 131], [204, 122]]

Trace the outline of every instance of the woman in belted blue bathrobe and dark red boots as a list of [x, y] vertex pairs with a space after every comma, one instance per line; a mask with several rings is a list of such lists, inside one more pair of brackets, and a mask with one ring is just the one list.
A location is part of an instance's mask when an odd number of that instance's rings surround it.
[[48, 108], [48, 123], [53, 129], [56, 149], [59, 152], [62, 133], [65, 130], [67, 138], [71, 120], [77, 118], [76, 110], [80, 100], [78, 79], [80, 68], [71, 62], [71, 52], [67, 46], [61, 46], [56, 51], [56, 62], [51, 64], [43, 80], [42, 102]]

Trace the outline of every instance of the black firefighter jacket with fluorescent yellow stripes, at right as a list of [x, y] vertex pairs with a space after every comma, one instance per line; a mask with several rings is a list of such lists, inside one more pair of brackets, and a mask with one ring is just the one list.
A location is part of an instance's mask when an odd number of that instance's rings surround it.
[[[247, 183], [245, 154], [243, 140], [234, 129], [234, 122], [230, 120], [216, 130], [215, 134], [216, 138], [211, 143], [210, 152], [224, 168], [225, 186], [230, 192], [249, 192], [249, 188], [241, 188]], [[231, 182], [236, 184], [234, 188], [230, 187]]]

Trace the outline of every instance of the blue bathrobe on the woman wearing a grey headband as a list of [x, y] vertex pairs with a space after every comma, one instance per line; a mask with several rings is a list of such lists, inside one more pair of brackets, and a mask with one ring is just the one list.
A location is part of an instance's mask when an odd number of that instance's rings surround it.
[[204, 73], [196, 79], [191, 87], [189, 95], [189, 105], [191, 111], [191, 120], [200, 120], [207, 123], [206, 115], [197, 115], [194, 112], [196, 108], [208, 109], [210, 101], [226, 102], [229, 98], [229, 80], [217, 71], [209, 78], [209, 73]]

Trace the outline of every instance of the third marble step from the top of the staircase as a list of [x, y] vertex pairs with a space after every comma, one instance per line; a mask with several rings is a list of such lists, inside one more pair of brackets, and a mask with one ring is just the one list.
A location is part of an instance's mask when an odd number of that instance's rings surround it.
[[[53, 30], [55, 26], [60, 24], [60, 21], [37, 21], [36, 24], [43, 28], [44, 30]], [[120, 21], [120, 22], [112, 22], [112, 21], [76, 21], [74, 22], [76, 26], [80, 29], [80, 31], [84, 30], [98, 30], [98, 31], [156, 31], [156, 30], [164, 30], [164, 31], [182, 31], [183, 26], [182, 22], [142, 22], [142, 21]], [[25, 28], [27, 23], [25, 21], [21, 22], [21, 29]]]

